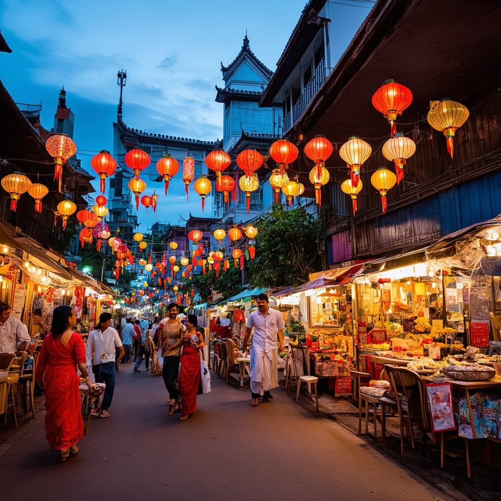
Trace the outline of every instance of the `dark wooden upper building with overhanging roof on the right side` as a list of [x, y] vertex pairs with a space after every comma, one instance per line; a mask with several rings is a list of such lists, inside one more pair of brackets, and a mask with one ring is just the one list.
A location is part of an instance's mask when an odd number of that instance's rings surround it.
[[[499, 54], [499, 5], [464, 2], [448, 9], [432, 0], [377, 2], [341, 58], [329, 62], [336, 7], [325, 0], [309, 2], [261, 100], [263, 106], [284, 103], [284, 132], [300, 151], [319, 133], [335, 143], [323, 196], [328, 263], [422, 248], [501, 212], [499, 64], [491, 64]], [[463, 33], [469, 34], [467, 44], [461, 42]], [[324, 66], [333, 69], [324, 72]], [[382, 213], [370, 177], [381, 165], [394, 167], [381, 153], [390, 127], [371, 98], [390, 78], [412, 91], [397, 129], [417, 149], [407, 160], [404, 179], [388, 192]], [[443, 98], [470, 112], [455, 134], [453, 158], [443, 134], [426, 120], [430, 101]], [[340, 190], [349, 169], [342, 167], [338, 152], [352, 135], [365, 139], [373, 153], [361, 171], [355, 216], [349, 196]], [[301, 158], [298, 166], [307, 178], [311, 166]]]

